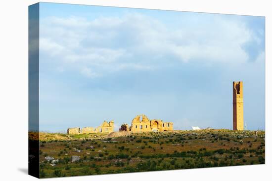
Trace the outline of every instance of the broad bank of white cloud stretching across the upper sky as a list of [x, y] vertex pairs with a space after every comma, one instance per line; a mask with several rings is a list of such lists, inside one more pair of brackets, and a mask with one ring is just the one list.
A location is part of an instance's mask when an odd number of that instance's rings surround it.
[[175, 28], [141, 14], [94, 20], [47, 17], [41, 21], [41, 52], [46, 61], [50, 57], [62, 69], [80, 70], [87, 77], [105, 70], [152, 70], [157, 61], [169, 59], [181, 63], [246, 62], [249, 55], [242, 45], [258, 41], [258, 37], [239, 19], [213, 17]]

